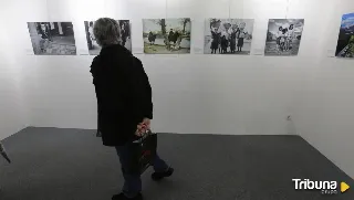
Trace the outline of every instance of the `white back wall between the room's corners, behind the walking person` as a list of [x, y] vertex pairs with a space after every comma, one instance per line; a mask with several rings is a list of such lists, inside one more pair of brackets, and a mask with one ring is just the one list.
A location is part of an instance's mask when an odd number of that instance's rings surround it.
[[[198, 54], [204, 48], [205, 19], [211, 17], [254, 18], [252, 52], [263, 51], [268, 19], [287, 17], [288, 3], [281, 0], [272, 1], [274, 3], [261, 0], [18, 2], [24, 7], [13, 3], [13, 9], [20, 10], [11, 27], [21, 38], [14, 45], [18, 50], [27, 49], [25, 52], [31, 52], [28, 21], [73, 21], [77, 53], [87, 54], [84, 20], [98, 17], [129, 19], [133, 51], [145, 64], [154, 90], [156, 131], [287, 134], [287, 116], [292, 113], [291, 105], [302, 78], [299, 67], [305, 67], [315, 56], [313, 43], [317, 41], [306, 42], [311, 39], [309, 31], [316, 30], [315, 27], [304, 30], [300, 51], [300, 55], [310, 61]], [[142, 19], [178, 17], [191, 18], [192, 54], [142, 54]], [[30, 125], [96, 128], [96, 101], [88, 72], [93, 56], [19, 56], [23, 57], [23, 92]], [[31, 63], [30, 67], [28, 63]]]

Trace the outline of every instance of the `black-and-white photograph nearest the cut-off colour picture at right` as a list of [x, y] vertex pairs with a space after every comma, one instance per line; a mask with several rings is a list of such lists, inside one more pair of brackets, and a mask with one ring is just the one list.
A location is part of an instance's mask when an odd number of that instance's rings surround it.
[[264, 55], [298, 55], [303, 27], [303, 19], [269, 20]]

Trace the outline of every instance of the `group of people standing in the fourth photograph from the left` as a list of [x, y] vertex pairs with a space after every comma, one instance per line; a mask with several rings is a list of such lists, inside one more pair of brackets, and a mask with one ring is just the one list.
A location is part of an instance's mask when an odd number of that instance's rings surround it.
[[[223, 24], [225, 25], [225, 24]], [[242, 52], [244, 39], [248, 35], [248, 32], [244, 31], [246, 23], [241, 24], [229, 24], [228, 29], [222, 29], [221, 27], [210, 28], [211, 32], [211, 54], [216, 54], [217, 51], [219, 53], [236, 53]], [[230, 52], [228, 52], [228, 48], [230, 48]], [[237, 50], [236, 50], [237, 48]]]

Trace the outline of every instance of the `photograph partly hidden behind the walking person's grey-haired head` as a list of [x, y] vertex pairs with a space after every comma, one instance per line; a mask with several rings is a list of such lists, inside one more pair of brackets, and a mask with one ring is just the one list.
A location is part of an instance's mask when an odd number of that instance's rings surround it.
[[[121, 27], [122, 45], [127, 50], [132, 51], [132, 36], [131, 36], [131, 24], [129, 20], [116, 20]], [[101, 46], [96, 42], [96, 38], [93, 34], [94, 21], [84, 21], [85, 32], [87, 40], [87, 48], [90, 55], [98, 55], [101, 52]]]

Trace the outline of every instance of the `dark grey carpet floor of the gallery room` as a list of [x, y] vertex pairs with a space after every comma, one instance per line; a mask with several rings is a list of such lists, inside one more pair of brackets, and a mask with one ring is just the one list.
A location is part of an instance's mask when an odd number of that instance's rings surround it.
[[[354, 199], [294, 190], [293, 178], [354, 181], [299, 136], [159, 134], [159, 155], [176, 171], [154, 182], [142, 177], [147, 200]], [[95, 130], [29, 127], [2, 141], [1, 200], [110, 200], [123, 183], [115, 150]]]

